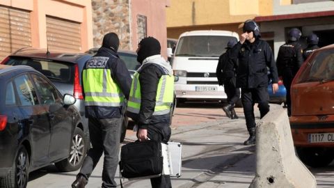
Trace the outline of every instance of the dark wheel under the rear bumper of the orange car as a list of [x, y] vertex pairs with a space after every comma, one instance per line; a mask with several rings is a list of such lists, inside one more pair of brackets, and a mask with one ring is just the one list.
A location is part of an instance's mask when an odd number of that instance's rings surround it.
[[296, 152], [301, 162], [314, 168], [327, 166], [333, 161], [334, 150], [327, 148], [297, 147]]

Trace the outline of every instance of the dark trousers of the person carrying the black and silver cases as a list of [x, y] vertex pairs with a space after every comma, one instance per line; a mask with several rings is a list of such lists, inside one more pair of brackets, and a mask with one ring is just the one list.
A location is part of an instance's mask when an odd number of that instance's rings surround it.
[[[168, 123], [158, 123], [148, 126], [148, 138], [151, 140], [167, 143], [170, 139], [171, 130]], [[151, 178], [152, 188], [171, 188], [169, 175], [161, 175], [157, 178]]]

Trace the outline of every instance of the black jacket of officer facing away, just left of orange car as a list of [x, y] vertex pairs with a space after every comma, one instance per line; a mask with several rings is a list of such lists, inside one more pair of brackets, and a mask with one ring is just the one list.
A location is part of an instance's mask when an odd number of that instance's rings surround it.
[[287, 42], [280, 46], [276, 65], [278, 68], [278, 75], [282, 76], [285, 69], [291, 69], [294, 74], [299, 70], [303, 64], [303, 49], [299, 42]]

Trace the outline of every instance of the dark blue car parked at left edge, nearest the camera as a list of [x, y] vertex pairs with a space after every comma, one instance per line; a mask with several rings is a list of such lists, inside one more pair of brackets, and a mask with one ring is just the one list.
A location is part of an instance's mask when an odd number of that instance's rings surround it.
[[0, 86], [0, 187], [26, 187], [29, 172], [53, 163], [79, 169], [88, 143], [74, 96], [25, 65], [0, 65]]

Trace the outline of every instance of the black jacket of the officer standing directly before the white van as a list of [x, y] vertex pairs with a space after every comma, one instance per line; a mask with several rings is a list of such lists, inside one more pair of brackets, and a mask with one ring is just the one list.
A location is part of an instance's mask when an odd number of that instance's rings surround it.
[[237, 58], [229, 58], [228, 52], [225, 52], [219, 56], [218, 65], [216, 68], [216, 75], [219, 86], [222, 86], [224, 82], [230, 81], [230, 79], [236, 77], [237, 67]]

